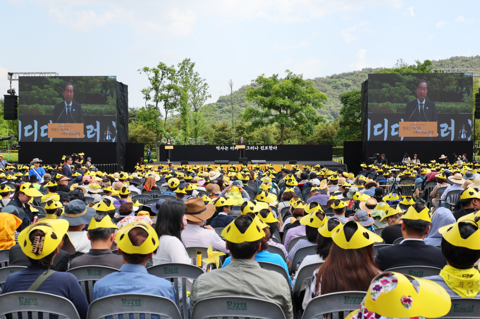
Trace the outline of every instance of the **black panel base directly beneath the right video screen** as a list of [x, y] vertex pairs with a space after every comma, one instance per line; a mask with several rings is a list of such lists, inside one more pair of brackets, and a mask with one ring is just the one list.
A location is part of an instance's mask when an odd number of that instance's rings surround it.
[[[421, 163], [430, 163], [432, 160], [438, 161], [441, 155], [445, 155], [448, 156], [450, 163], [453, 163], [454, 157], [452, 153], [455, 152], [457, 155], [466, 153], [468, 161], [471, 162], [473, 155], [472, 149], [473, 141], [369, 141], [367, 155], [370, 157], [375, 153], [384, 153], [388, 163], [401, 162], [404, 153], [407, 153], [410, 158], [413, 157], [413, 154], [417, 154]], [[350, 165], [348, 167], [352, 169]]]

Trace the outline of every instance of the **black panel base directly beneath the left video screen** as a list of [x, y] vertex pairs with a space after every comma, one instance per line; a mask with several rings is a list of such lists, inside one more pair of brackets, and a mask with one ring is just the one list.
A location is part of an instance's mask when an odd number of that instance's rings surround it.
[[60, 164], [63, 155], [74, 153], [85, 153], [92, 157], [93, 164], [116, 164], [117, 143], [96, 143], [96, 142], [22, 142], [22, 149], [18, 152], [18, 161], [21, 164], [28, 164], [38, 157], [42, 164]]

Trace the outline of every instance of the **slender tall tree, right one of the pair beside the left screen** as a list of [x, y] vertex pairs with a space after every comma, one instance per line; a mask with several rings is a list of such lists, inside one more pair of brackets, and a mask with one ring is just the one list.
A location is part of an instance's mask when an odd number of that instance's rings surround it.
[[178, 64], [179, 83], [187, 94], [187, 100], [182, 102], [180, 117], [183, 121], [182, 136], [187, 142], [190, 136], [190, 127], [192, 127], [192, 138], [197, 145], [200, 137], [206, 128], [206, 119], [209, 117], [209, 107], [205, 107], [205, 102], [212, 95], [208, 93], [208, 84], [200, 74], [193, 70], [195, 63], [190, 59], [185, 59]]

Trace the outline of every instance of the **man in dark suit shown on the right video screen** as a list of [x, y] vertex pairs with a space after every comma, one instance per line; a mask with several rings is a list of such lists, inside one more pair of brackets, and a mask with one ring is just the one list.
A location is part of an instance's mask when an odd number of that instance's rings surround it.
[[427, 81], [418, 80], [415, 88], [417, 99], [407, 103], [405, 122], [437, 122], [437, 109], [435, 103], [426, 99], [427, 90]]

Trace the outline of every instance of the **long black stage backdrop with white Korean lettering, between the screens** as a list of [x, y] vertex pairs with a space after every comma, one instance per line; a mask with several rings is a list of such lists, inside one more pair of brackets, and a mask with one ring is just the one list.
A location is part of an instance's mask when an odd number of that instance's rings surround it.
[[[174, 145], [171, 151], [175, 162], [238, 161], [240, 157], [240, 151], [232, 145]], [[165, 146], [161, 146], [158, 155], [158, 161], [167, 161]], [[245, 148], [245, 157], [249, 161], [331, 161], [332, 156], [332, 145], [247, 145]]]

